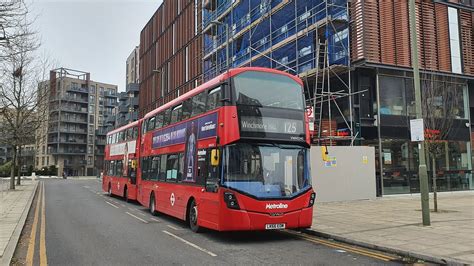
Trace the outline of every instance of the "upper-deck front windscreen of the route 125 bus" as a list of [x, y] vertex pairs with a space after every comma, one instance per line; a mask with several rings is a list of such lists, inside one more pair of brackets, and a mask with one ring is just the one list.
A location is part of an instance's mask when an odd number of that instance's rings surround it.
[[235, 102], [242, 105], [303, 110], [303, 88], [288, 76], [247, 71], [234, 77]]

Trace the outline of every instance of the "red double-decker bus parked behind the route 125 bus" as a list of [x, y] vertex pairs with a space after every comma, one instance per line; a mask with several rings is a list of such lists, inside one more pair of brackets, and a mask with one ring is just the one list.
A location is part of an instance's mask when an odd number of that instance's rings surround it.
[[107, 133], [102, 189], [109, 195], [137, 199], [137, 165], [141, 121]]

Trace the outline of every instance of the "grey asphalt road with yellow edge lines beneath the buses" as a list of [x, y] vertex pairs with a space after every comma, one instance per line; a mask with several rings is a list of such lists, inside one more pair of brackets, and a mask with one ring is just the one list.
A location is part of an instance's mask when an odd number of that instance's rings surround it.
[[[15, 265], [367, 265], [400, 258], [295, 231], [193, 233], [102, 193], [98, 180], [42, 181]], [[32, 233], [33, 232], [33, 233]]]

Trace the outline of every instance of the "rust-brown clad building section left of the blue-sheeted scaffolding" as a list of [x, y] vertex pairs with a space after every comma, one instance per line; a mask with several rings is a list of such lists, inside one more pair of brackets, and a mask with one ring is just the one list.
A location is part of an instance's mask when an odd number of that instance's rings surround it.
[[202, 81], [201, 0], [164, 0], [140, 34], [139, 117]]

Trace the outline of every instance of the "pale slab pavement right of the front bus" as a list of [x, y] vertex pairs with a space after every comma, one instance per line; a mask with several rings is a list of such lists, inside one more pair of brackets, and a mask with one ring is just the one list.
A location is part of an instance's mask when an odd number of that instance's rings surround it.
[[316, 202], [311, 232], [431, 262], [474, 264], [474, 191], [438, 193], [431, 226], [422, 225], [420, 204], [419, 195]]

